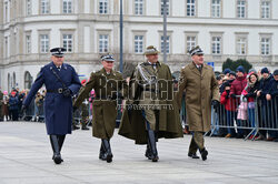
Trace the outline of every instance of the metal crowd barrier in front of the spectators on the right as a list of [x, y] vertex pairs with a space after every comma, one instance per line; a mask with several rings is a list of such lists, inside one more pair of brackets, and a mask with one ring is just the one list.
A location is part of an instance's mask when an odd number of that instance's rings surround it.
[[[257, 98], [254, 103], [240, 102], [240, 96], [235, 101], [236, 111], [227, 111], [221, 104], [217, 110], [212, 109], [211, 114], [211, 132], [212, 134], [231, 134], [231, 136], [245, 136], [245, 140], [251, 136], [254, 140], [260, 131], [278, 134], [278, 98], [271, 101], [261, 100]], [[232, 108], [232, 106], [229, 106]], [[246, 114], [239, 114], [246, 113]]]

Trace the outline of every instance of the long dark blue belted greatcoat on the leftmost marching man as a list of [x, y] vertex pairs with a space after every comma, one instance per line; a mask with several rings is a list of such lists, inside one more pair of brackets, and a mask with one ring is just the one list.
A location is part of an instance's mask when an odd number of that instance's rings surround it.
[[37, 91], [44, 84], [47, 89], [44, 99], [47, 133], [56, 135], [70, 134], [72, 123], [72, 100], [71, 96], [63, 96], [63, 85], [53, 74], [52, 70], [61, 78], [72, 94], [79, 91], [81, 83], [75, 69], [70, 64], [63, 63], [59, 71], [53, 62], [50, 62], [41, 69], [23, 105], [28, 106]]

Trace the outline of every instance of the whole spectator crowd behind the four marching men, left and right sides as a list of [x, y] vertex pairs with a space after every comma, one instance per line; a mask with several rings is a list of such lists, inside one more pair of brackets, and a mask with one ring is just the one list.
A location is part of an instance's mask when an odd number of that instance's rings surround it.
[[[211, 134], [215, 136], [247, 137], [254, 140], [278, 141], [278, 70], [271, 73], [267, 68], [246, 72], [244, 67], [236, 71], [225, 69], [217, 75], [220, 106], [212, 111]], [[44, 90], [38, 92], [33, 105], [23, 114], [21, 105], [29, 90], [0, 89], [0, 121], [43, 121]], [[89, 116], [93, 91], [89, 99]], [[185, 105], [182, 105], [185, 111]], [[29, 115], [27, 117], [26, 115]], [[186, 120], [186, 111], [182, 122]], [[259, 130], [256, 132], [254, 130]], [[185, 133], [189, 133], [185, 129]]]

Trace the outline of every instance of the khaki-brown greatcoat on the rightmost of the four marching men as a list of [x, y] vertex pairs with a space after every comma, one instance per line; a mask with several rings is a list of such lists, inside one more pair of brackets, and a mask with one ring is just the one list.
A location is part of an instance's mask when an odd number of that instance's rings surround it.
[[186, 90], [187, 122], [190, 131], [208, 132], [211, 124], [211, 100], [219, 101], [219, 89], [211, 67], [203, 64], [201, 73], [195, 63], [181, 69], [177, 100], [181, 106]]

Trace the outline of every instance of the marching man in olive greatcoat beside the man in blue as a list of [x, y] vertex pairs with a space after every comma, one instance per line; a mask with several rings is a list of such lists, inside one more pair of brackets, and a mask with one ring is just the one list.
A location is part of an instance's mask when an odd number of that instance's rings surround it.
[[99, 159], [112, 162], [110, 139], [113, 135], [117, 117], [118, 93], [126, 89], [122, 75], [112, 70], [115, 59], [111, 54], [101, 57], [103, 68], [92, 72], [85, 89], [80, 91], [73, 106], [79, 108], [83, 100], [95, 89], [96, 98], [92, 102], [92, 136], [101, 139]]

